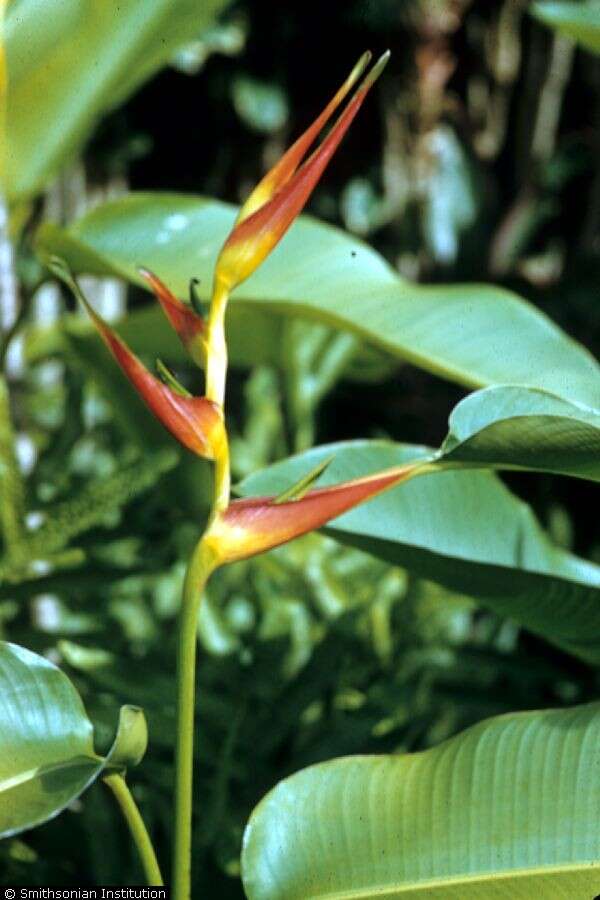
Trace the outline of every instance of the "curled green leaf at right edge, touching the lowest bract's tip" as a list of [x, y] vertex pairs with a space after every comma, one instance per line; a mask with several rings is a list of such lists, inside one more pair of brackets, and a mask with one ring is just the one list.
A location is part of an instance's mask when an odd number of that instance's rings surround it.
[[544, 391], [477, 391], [455, 407], [449, 426], [442, 465], [535, 469], [600, 481], [600, 412]]

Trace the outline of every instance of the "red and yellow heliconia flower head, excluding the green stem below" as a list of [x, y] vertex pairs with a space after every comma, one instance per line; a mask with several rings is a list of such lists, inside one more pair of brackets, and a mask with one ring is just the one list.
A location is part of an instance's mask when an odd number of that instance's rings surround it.
[[51, 262], [56, 274], [83, 303], [123, 372], [155, 416], [189, 450], [216, 461], [221, 485], [203, 538], [211, 568], [263, 553], [320, 528], [426, 468], [421, 460], [330, 487], [311, 489], [326, 467], [325, 462], [279, 497], [229, 501], [228, 443], [222, 410], [227, 365], [223, 316], [227, 298], [265, 260], [300, 214], [388, 58], [389, 52], [373, 66], [327, 137], [303, 162], [310, 145], [365, 72], [371, 54], [361, 56], [323, 112], [243, 204], [217, 259], [207, 322], [199, 314], [197, 304], [193, 308], [183, 303], [153, 272], [139, 269], [192, 359], [199, 366], [206, 366], [207, 397], [188, 394], [162, 364], [166, 383], [152, 375], [90, 306], [64, 264], [59, 260]]

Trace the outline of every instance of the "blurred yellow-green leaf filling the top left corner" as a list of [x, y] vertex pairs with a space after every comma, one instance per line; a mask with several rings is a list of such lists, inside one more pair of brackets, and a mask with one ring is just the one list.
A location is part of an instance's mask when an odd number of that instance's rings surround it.
[[223, 0], [9, 3], [10, 199], [39, 191], [100, 115], [196, 38], [223, 6]]

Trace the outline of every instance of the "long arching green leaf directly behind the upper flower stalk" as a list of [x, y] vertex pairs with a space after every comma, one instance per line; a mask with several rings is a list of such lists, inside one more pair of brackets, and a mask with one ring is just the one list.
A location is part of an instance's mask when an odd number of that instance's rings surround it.
[[[181, 297], [195, 275], [208, 298], [235, 214], [199, 197], [131, 194], [68, 230], [42, 226], [38, 250], [75, 272], [136, 283], [146, 265]], [[469, 387], [523, 384], [600, 407], [596, 361], [525, 301], [489, 285], [410, 284], [362, 242], [310, 218], [235, 292], [230, 319], [240, 307], [325, 322]]]

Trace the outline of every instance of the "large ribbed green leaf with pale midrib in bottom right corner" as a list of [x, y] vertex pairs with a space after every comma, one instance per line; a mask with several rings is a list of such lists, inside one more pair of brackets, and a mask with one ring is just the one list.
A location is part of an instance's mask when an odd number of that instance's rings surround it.
[[304, 769], [244, 835], [249, 900], [593, 900], [600, 705], [488, 719], [438, 747]]

